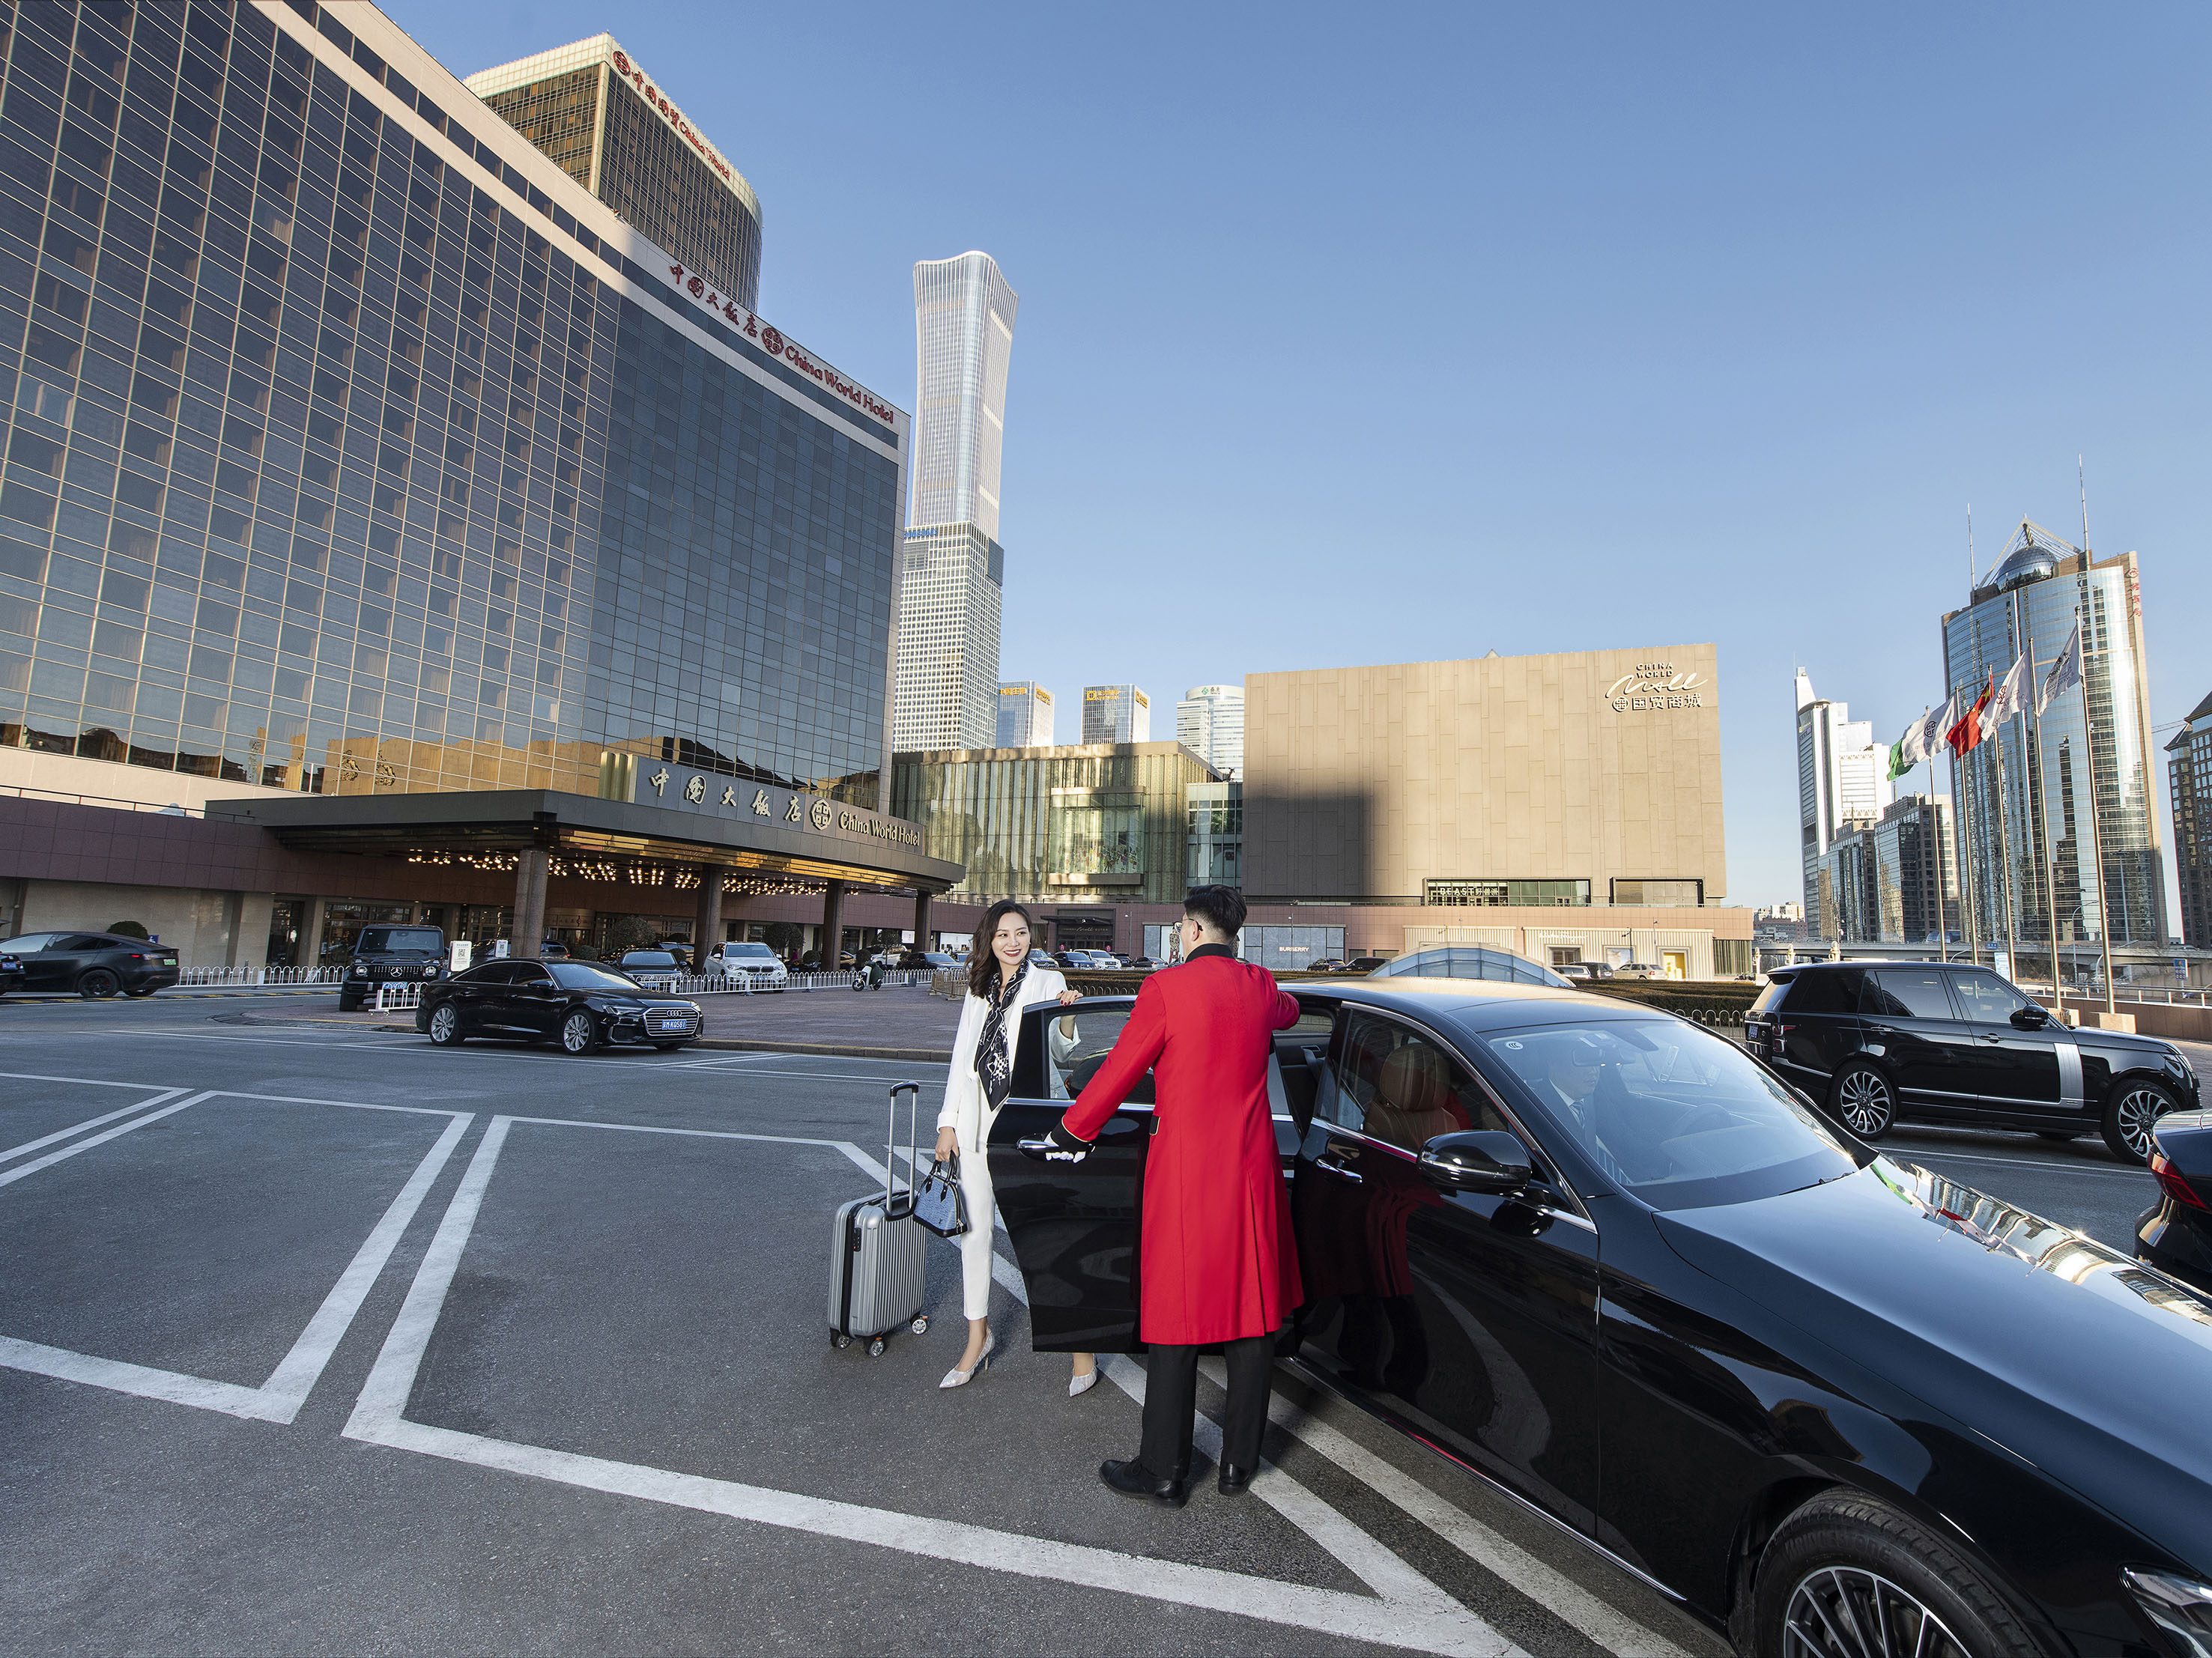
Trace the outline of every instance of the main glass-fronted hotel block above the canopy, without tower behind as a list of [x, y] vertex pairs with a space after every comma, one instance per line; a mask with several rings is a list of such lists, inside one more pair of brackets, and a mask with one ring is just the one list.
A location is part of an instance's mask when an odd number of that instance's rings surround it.
[[374, 7], [20, 7], [0, 745], [876, 805], [907, 422], [708, 294]]

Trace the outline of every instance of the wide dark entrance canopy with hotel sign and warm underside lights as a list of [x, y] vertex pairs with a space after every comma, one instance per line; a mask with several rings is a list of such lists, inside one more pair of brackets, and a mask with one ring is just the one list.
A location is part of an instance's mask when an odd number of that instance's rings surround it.
[[[677, 780], [684, 800], [686, 783]], [[953, 886], [960, 864], [929, 858], [902, 818], [825, 796], [712, 778], [697, 800], [648, 805], [553, 789], [336, 794], [208, 800], [208, 816], [268, 829], [290, 851], [349, 851], [429, 864], [513, 867], [540, 851], [549, 873], [606, 880], [639, 864], [894, 886]]]

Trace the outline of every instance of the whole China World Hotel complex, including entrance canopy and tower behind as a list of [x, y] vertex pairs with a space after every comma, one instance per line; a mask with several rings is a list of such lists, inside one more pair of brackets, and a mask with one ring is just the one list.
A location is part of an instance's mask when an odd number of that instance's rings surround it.
[[909, 418], [752, 312], [759, 201], [644, 66], [487, 102], [307, 0], [4, 29], [9, 931], [925, 924]]

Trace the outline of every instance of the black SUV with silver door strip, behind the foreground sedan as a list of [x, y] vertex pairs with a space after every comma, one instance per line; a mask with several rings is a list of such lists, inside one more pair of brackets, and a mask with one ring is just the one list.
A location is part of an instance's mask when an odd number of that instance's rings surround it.
[[2057, 1024], [1966, 962], [1783, 968], [1743, 1039], [1863, 1141], [1902, 1116], [2053, 1141], [2097, 1132], [2112, 1156], [2141, 1163], [2150, 1125], [2197, 1105], [2197, 1072], [2170, 1041]]

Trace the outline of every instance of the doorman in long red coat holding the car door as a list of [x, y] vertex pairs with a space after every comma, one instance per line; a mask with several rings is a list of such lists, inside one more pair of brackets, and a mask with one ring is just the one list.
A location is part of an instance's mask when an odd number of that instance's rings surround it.
[[1259, 1468], [1276, 1331], [1303, 1300], [1267, 1110], [1274, 1032], [1298, 1021], [1298, 1004], [1267, 968], [1237, 959], [1243, 917], [1232, 886], [1183, 900], [1183, 966], [1144, 982], [1121, 1039], [1053, 1130], [1062, 1156], [1082, 1156], [1152, 1072], [1137, 1315], [1152, 1353], [1144, 1448], [1102, 1463], [1099, 1479], [1168, 1508], [1183, 1505], [1190, 1477], [1199, 1349], [1221, 1344], [1228, 1357], [1219, 1488], [1234, 1497]]

